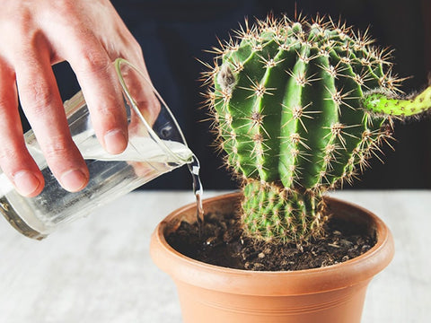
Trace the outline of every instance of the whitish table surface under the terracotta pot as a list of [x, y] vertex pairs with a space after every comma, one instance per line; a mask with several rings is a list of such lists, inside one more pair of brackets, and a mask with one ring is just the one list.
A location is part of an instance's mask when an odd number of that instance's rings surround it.
[[[431, 191], [332, 196], [374, 211], [395, 238], [395, 258], [370, 285], [363, 323], [429, 322]], [[148, 245], [155, 225], [190, 202], [191, 191], [131, 193], [42, 241], [0, 220], [0, 323], [180, 323], [175, 287]]]

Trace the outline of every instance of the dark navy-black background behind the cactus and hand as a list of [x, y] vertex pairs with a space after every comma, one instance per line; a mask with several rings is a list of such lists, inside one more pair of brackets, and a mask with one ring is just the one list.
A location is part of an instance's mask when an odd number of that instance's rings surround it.
[[[244, 17], [264, 18], [268, 12], [293, 17], [298, 11], [339, 17], [370, 33], [377, 44], [394, 49], [394, 71], [400, 77], [414, 76], [402, 87], [405, 92], [423, 89], [431, 71], [431, 1], [429, 0], [243, 0], [243, 1], [112, 1], [143, 48], [155, 87], [171, 107], [190, 148], [198, 155], [204, 188], [232, 189], [235, 183], [210, 146], [205, 109], [199, 109], [204, 92], [198, 82], [205, 70], [197, 58], [212, 62], [205, 52], [226, 39]], [[54, 67], [64, 100], [79, 90], [75, 76], [65, 63]], [[397, 124], [396, 152], [384, 149], [383, 165], [372, 161], [355, 188], [431, 188], [431, 121]], [[154, 179], [143, 188], [190, 189], [186, 167]]]

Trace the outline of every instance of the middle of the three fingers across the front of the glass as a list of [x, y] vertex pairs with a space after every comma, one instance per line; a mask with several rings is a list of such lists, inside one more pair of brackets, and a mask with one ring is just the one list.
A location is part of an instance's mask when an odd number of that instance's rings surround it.
[[49, 169], [66, 190], [84, 188], [89, 173], [70, 135], [65, 109], [48, 56], [19, 57], [14, 64], [22, 109]]

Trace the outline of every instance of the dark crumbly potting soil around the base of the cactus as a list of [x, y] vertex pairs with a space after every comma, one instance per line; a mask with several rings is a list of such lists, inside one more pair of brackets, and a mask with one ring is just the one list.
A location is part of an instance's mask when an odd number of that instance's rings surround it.
[[362, 255], [374, 237], [347, 222], [330, 219], [324, 233], [307, 244], [270, 244], [244, 237], [235, 215], [206, 214], [198, 223], [182, 222], [166, 237], [173, 249], [207, 264], [237, 269], [286, 271], [330, 266]]

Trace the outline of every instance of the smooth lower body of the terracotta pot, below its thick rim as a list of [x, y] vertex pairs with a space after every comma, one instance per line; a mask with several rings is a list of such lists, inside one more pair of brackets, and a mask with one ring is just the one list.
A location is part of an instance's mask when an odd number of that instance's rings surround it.
[[359, 323], [367, 284], [279, 296], [210, 291], [178, 281], [177, 288], [185, 323]]

